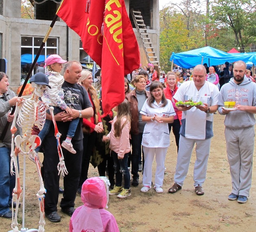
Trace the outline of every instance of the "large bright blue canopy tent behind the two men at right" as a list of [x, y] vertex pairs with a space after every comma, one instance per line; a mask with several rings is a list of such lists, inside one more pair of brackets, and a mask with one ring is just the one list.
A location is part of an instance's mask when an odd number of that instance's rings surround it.
[[183, 67], [183, 68], [192, 68], [196, 65], [207, 63], [210, 67], [211, 65], [220, 65], [228, 62], [235, 62], [242, 60], [244, 62], [252, 61], [256, 62], [256, 55], [250, 53], [227, 53], [221, 50], [211, 48], [209, 46], [204, 48], [198, 48], [195, 50], [174, 53], [171, 55], [170, 61]]

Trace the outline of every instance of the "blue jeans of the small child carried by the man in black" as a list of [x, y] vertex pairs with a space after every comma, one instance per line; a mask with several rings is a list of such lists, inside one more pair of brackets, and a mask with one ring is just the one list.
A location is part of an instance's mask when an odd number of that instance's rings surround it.
[[[56, 115], [57, 113], [62, 112], [62, 111], [63, 110], [61, 110], [61, 108], [54, 107], [53, 114]], [[39, 138], [41, 139], [41, 143], [43, 143], [44, 138], [48, 134], [48, 132], [50, 130], [50, 126], [52, 125], [52, 122], [53, 122], [52, 120], [48, 120], [48, 119], [45, 120], [44, 127], [38, 134]], [[79, 117], [70, 121], [67, 137], [70, 137], [70, 138], [74, 137], [74, 132], [77, 130], [78, 123], [79, 123]], [[40, 147], [41, 147], [41, 145], [36, 147], [35, 152], [39, 152]]]

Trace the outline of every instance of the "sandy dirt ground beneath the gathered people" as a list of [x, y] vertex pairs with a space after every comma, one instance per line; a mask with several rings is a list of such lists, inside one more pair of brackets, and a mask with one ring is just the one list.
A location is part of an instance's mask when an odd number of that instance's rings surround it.
[[[251, 195], [247, 203], [239, 204], [229, 201], [231, 178], [225, 151], [224, 117], [214, 115], [214, 137], [211, 143], [206, 182], [203, 185], [205, 194], [197, 196], [193, 187], [193, 165], [195, 152], [190, 162], [188, 176], [181, 191], [168, 193], [173, 184], [176, 165], [176, 147], [173, 134], [171, 146], [166, 156], [166, 174], [164, 175], [164, 193], [156, 193], [151, 189], [141, 193], [142, 175], [138, 187], [131, 186], [131, 196], [118, 199], [116, 195], [109, 197], [108, 209], [116, 217], [120, 232], [252, 232], [256, 229], [256, 165], [253, 165]], [[255, 156], [255, 155], [254, 155]], [[42, 156], [41, 156], [42, 158]], [[20, 157], [20, 175], [23, 177], [23, 159]], [[38, 228], [39, 209], [35, 194], [39, 190], [35, 165], [27, 159], [26, 171], [26, 208], [25, 227]], [[155, 170], [155, 163], [153, 163]], [[97, 169], [90, 166], [90, 177], [97, 176]], [[61, 184], [63, 180], [61, 179]], [[154, 178], [153, 178], [154, 182]], [[61, 195], [59, 195], [61, 199]], [[76, 207], [81, 206], [81, 198], [77, 195]], [[45, 231], [68, 231], [70, 217], [62, 216], [61, 222], [52, 223], [46, 220]], [[22, 223], [22, 208], [19, 210], [19, 222]], [[0, 232], [10, 230], [11, 220], [0, 219]], [[19, 228], [22, 227], [22, 224]]]

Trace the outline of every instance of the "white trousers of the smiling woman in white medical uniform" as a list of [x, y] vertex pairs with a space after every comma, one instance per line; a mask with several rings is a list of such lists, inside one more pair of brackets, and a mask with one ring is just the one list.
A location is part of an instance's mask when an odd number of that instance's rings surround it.
[[162, 187], [164, 181], [164, 160], [168, 147], [144, 147], [144, 171], [143, 171], [143, 186], [151, 186], [152, 181], [152, 164], [155, 156], [155, 187]]

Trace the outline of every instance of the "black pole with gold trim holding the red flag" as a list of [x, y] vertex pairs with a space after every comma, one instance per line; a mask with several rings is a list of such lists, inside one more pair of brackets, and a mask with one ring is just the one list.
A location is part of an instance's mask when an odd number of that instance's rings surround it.
[[[53, 26], [54, 26], [54, 24], [55, 24], [55, 22], [56, 22], [56, 20], [57, 20], [57, 18], [58, 18], [57, 13], [58, 13], [59, 9], [61, 8], [61, 5], [62, 5], [63, 2], [64, 2], [64, 0], [62, 0], [61, 4], [59, 5], [59, 8], [58, 8], [58, 10], [57, 10], [57, 12], [56, 12], [56, 14], [55, 14], [55, 16], [54, 16], [54, 18], [53, 18], [53, 21], [51, 22], [50, 27], [49, 27], [49, 29], [48, 29], [48, 31], [47, 31], [47, 33], [46, 33], [46, 35], [45, 35], [45, 37], [44, 37], [44, 39], [43, 39], [43, 41], [42, 41], [42, 44], [41, 44], [41, 46], [40, 46], [40, 48], [39, 48], [39, 50], [38, 50], [36, 56], [35, 56], [35, 59], [34, 59], [32, 65], [31, 65], [31, 67], [30, 67], [30, 69], [29, 69], [29, 71], [28, 71], [28, 74], [27, 74], [27, 76], [26, 76], [26, 79], [25, 79], [25, 81], [24, 81], [24, 83], [23, 83], [23, 85], [22, 85], [22, 88], [21, 88], [21, 90], [20, 90], [20, 93], [19, 93], [19, 95], [18, 95], [19, 98], [22, 96], [22, 93], [23, 93], [23, 91], [24, 91], [24, 89], [25, 89], [25, 87], [26, 87], [26, 84], [27, 84], [27, 82], [28, 82], [28, 79], [30, 78], [30, 76], [31, 76], [31, 74], [32, 74], [32, 71], [33, 71], [33, 69], [34, 69], [34, 67], [35, 67], [35, 64], [37, 63], [37, 60], [38, 60], [38, 58], [39, 58], [39, 55], [41, 54], [41, 52], [42, 52], [42, 50], [43, 50], [43, 48], [44, 48], [44, 45], [45, 45], [45, 43], [46, 43], [46, 40], [48, 39], [48, 37], [49, 37], [49, 35], [50, 35], [50, 32], [51, 32], [52, 29], [53, 29]], [[14, 114], [15, 108], [16, 108], [16, 106], [13, 106], [13, 109], [12, 109], [12, 111], [11, 111], [11, 115]], [[0, 137], [0, 142], [2, 142], [2, 141], [4, 140], [4, 136], [5, 136], [5, 134], [6, 134], [7, 130], [8, 130], [9, 124], [10, 124], [10, 122], [7, 121], [7, 124], [5, 125], [4, 130], [2, 131], [2, 135], [1, 135], [1, 137]]]

